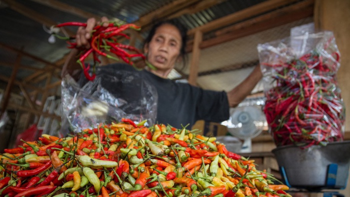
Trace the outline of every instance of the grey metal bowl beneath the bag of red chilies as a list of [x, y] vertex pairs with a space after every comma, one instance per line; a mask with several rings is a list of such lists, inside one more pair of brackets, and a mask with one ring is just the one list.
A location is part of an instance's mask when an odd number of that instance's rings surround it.
[[343, 189], [350, 165], [350, 140], [301, 149], [295, 145], [272, 150], [285, 184], [304, 189]]

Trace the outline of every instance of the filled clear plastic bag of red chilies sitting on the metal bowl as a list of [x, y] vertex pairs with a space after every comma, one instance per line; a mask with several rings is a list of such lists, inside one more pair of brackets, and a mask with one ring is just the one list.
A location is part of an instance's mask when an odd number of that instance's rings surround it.
[[[300, 46], [292, 47], [298, 40]], [[264, 113], [277, 146], [301, 148], [343, 140], [344, 103], [337, 86], [333, 33], [304, 33], [258, 44]]]

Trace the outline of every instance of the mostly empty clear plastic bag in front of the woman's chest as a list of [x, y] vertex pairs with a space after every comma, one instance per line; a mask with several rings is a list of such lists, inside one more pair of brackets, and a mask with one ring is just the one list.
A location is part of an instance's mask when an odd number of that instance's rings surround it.
[[[121, 118], [135, 123], [147, 120], [145, 125], [154, 123], [157, 91], [142, 78], [141, 72], [100, 66], [96, 78], [85, 82], [80, 80], [79, 85], [69, 75], [62, 79], [62, 135], [68, 132], [68, 128], [79, 132], [101, 122], [118, 122]], [[81, 83], [84, 83], [82, 87]]]

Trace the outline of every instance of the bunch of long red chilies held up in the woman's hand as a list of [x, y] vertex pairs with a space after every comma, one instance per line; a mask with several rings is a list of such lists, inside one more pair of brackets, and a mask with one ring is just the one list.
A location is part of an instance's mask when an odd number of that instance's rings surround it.
[[[57, 24], [55, 27], [62, 26], [86, 26], [84, 22], [64, 22]], [[124, 30], [132, 28], [139, 30], [140, 27], [135, 24], [117, 24], [115, 22], [109, 22], [107, 26], [96, 25], [91, 33], [91, 38], [89, 39], [90, 48], [81, 49], [79, 54], [79, 59], [77, 62], [81, 65], [83, 73], [88, 80], [93, 80], [95, 78], [95, 66], [98, 63], [101, 63], [99, 56], [106, 56], [115, 60], [123, 60], [128, 64], [134, 65], [132, 61], [133, 57], [141, 57], [145, 59], [145, 56], [134, 46], [120, 43], [118, 38], [124, 37], [129, 39], [130, 37], [123, 33]], [[57, 35], [58, 36], [58, 35]], [[70, 39], [66, 37], [60, 37], [63, 39]], [[74, 41], [67, 41], [69, 46], [68, 48], [76, 48], [77, 43]], [[89, 69], [90, 64], [85, 65], [84, 60], [87, 56], [92, 55], [93, 57], [93, 67], [92, 74], [90, 75]]]

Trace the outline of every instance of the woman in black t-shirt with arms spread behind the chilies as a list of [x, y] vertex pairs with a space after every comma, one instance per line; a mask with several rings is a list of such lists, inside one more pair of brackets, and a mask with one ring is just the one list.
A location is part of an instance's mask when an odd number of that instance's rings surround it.
[[[101, 21], [107, 24], [108, 19], [102, 17]], [[76, 34], [78, 46], [90, 47], [88, 39], [95, 25], [96, 20], [90, 18], [87, 20], [86, 27], [79, 27]], [[155, 24], [145, 39], [144, 53], [148, 62], [156, 69], [145, 69], [141, 72], [142, 76], [155, 86], [158, 93], [156, 121], [181, 127], [187, 124], [191, 126], [198, 119], [214, 122], [227, 120], [229, 107], [234, 107], [242, 101], [262, 77], [259, 66], [256, 66], [247, 78], [228, 92], [203, 90], [189, 84], [176, 83], [166, 77], [175, 63], [184, 58], [185, 43], [186, 29], [173, 20]], [[73, 49], [62, 69], [62, 75], [66, 73], [74, 75], [73, 64], [75, 67], [78, 66], [72, 57], [76, 53], [77, 49]], [[125, 68], [120, 64], [109, 66]], [[127, 69], [130, 67], [127, 66]]]

